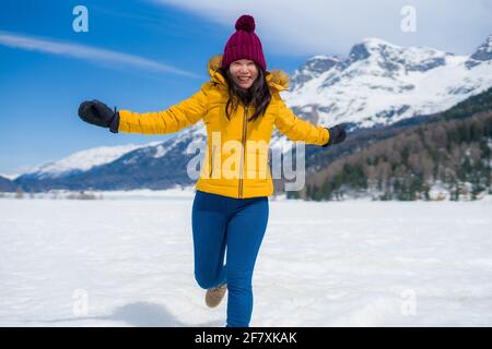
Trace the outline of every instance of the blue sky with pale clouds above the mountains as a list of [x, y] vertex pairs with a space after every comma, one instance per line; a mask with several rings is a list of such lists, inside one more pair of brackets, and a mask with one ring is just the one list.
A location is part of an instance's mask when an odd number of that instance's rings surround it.
[[[243, 13], [257, 20], [269, 69], [289, 73], [314, 55], [347, 55], [363, 37], [469, 53], [492, 34], [490, 1], [452, 9], [445, 1], [426, 2], [2, 1], [0, 173], [90, 147], [164, 140], [85, 124], [78, 106], [97, 98], [150, 111], [189, 97], [208, 80], [208, 60], [222, 52]], [[399, 27], [407, 3], [418, 10], [417, 33]], [[78, 4], [89, 10], [89, 33], [72, 29]]]

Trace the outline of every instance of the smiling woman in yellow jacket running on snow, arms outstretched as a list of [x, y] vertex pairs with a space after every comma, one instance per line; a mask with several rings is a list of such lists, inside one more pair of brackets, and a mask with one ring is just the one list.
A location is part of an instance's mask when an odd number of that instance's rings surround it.
[[342, 142], [345, 131], [343, 125], [326, 129], [297, 118], [279, 95], [286, 89], [288, 75], [267, 71], [253, 16], [241, 16], [235, 28], [224, 53], [209, 62], [210, 82], [190, 98], [145, 113], [84, 101], [79, 116], [113, 133], [142, 134], [177, 132], [203, 120], [208, 147], [192, 206], [195, 277], [208, 290], [211, 308], [229, 290], [226, 326], [246, 327], [253, 312], [253, 270], [273, 193], [268, 153], [257, 161], [258, 144], [268, 147], [273, 125], [293, 141], [319, 146]]

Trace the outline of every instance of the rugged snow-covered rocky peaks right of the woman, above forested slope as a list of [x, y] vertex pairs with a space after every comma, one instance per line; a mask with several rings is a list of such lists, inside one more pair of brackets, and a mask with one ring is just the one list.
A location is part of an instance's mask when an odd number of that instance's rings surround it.
[[366, 38], [347, 58], [309, 59], [282, 96], [317, 123], [371, 128], [443, 111], [490, 86], [492, 36], [471, 56]]

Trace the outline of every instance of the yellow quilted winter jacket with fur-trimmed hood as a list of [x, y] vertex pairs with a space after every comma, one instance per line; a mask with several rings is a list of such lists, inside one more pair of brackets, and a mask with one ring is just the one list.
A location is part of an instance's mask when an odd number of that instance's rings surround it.
[[263, 116], [248, 121], [254, 107], [239, 106], [227, 120], [227, 85], [221, 73], [222, 56], [208, 64], [210, 82], [190, 98], [156, 112], [119, 111], [119, 132], [166, 134], [202, 120], [207, 128], [207, 152], [196, 189], [235, 197], [269, 196], [273, 183], [268, 166], [268, 147], [273, 125], [292, 141], [325, 145], [329, 132], [321, 125], [297, 118], [279, 95], [288, 88], [289, 75], [282, 71], [266, 73], [272, 98]]

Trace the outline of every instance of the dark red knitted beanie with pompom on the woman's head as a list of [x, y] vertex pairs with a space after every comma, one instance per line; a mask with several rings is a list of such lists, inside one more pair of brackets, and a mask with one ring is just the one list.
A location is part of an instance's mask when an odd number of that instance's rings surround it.
[[236, 33], [231, 35], [225, 44], [222, 56], [222, 69], [239, 59], [249, 59], [267, 70], [263, 49], [259, 37], [255, 34], [255, 19], [248, 14], [242, 15], [236, 21]]

